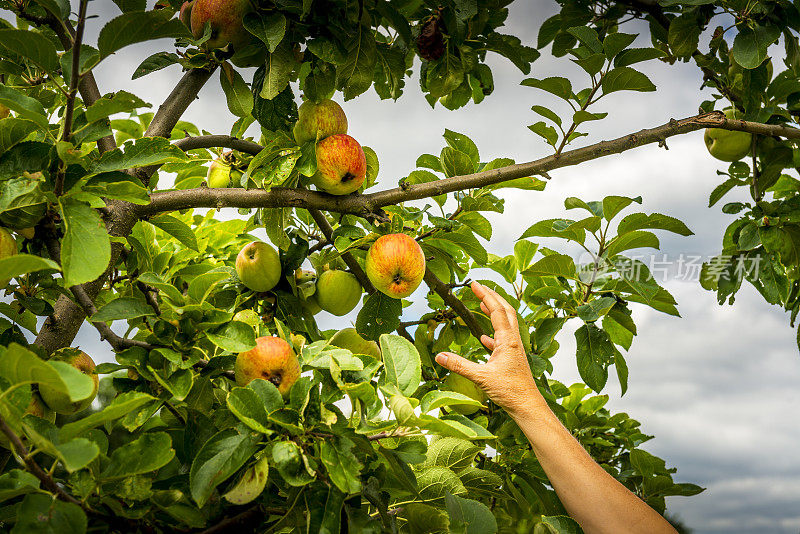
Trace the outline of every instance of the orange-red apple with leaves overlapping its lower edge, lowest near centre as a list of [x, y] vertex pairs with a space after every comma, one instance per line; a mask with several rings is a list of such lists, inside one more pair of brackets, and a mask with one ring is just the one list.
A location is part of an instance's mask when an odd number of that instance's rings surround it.
[[256, 346], [236, 357], [236, 383], [242, 387], [256, 378], [275, 384], [284, 397], [300, 377], [300, 362], [292, 346], [279, 337], [256, 339]]

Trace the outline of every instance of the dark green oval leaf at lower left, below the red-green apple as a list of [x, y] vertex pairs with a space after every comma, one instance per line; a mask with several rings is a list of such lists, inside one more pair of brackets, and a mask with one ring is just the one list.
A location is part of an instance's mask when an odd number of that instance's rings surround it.
[[150, 473], [164, 467], [174, 457], [175, 451], [172, 449], [172, 438], [169, 434], [142, 434], [139, 439], [114, 449], [100, 477], [108, 480]]

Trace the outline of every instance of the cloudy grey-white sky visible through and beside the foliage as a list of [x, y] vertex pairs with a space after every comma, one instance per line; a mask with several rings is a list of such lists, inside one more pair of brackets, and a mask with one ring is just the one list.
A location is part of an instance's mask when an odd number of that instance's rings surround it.
[[[97, 18], [87, 27], [87, 42], [96, 43], [102, 23], [119, 12], [108, 0], [92, 2], [89, 10]], [[511, 5], [507, 33], [534, 45], [542, 21], [557, 10], [558, 5], [549, 0], [518, 0]], [[647, 36], [644, 26], [628, 26], [624, 31], [639, 31]], [[644, 39], [641, 41], [639, 46], [647, 45]], [[135, 81], [130, 78], [143, 59], [170, 44], [162, 41], [155, 46], [131, 46], [103, 62], [95, 71], [101, 93], [125, 89], [156, 109], [180, 78], [180, 67], [169, 67]], [[773, 47], [771, 52], [780, 51]], [[775, 63], [776, 70], [783, 68]], [[395, 187], [398, 179], [414, 169], [420, 154], [438, 154], [444, 146], [441, 135], [445, 128], [472, 138], [483, 161], [510, 157], [522, 162], [549, 153], [549, 147], [527, 129], [528, 124], [540, 120], [530, 107], [539, 104], [556, 111], [563, 109], [546, 93], [520, 86], [526, 76], [504, 58], [493, 55], [490, 65], [494, 94], [480, 105], [470, 104], [455, 112], [440, 106], [431, 109], [418, 91], [416, 79], [407, 81], [409, 90], [395, 103], [380, 101], [372, 90], [342, 103], [350, 124], [348, 133], [378, 154], [378, 188]], [[608, 112], [608, 118], [582, 128], [590, 136], [578, 140], [575, 146], [693, 115], [710, 94], [700, 92], [701, 75], [692, 65], [670, 66], [654, 61], [638, 68], [650, 76], [658, 91], [621, 92], [604, 98], [593, 111]], [[552, 58], [549, 50], [543, 51], [533, 64], [531, 76], [556, 75], [570, 77], [573, 87], [586, 83], [571, 62]], [[245, 74], [245, 79], [251, 77]], [[339, 96], [337, 99], [341, 102]], [[216, 75], [184, 118], [212, 133], [230, 131], [234, 117], [225, 106]], [[657, 261], [661, 254], [671, 260], [682, 254], [703, 258], [716, 254], [724, 229], [733, 220], [722, 214], [719, 206], [707, 207], [709, 193], [721, 181], [716, 171], [724, 164], [708, 155], [702, 132], [673, 137], [668, 145], [669, 150], [649, 145], [554, 171], [544, 192], [501, 192], [506, 210], [490, 217], [494, 237], [487, 244], [488, 250], [509, 254], [516, 238], [530, 224], [551, 217], [575, 218], [576, 212], [563, 207], [568, 196], [599, 200], [616, 194], [641, 195], [644, 211], [678, 217], [695, 232], [688, 238], [662, 232]], [[734, 197], [726, 197], [726, 201]], [[227, 216], [237, 214], [229, 210]], [[561, 242], [542, 242], [565, 253], [578, 252], [564, 248]], [[488, 276], [478, 272], [474, 275]], [[668, 466], [676, 467], [676, 481], [707, 488], [695, 497], [668, 499], [668, 510], [695, 532], [797, 534], [800, 355], [788, 316], [767, 305], [750, 286], [739, 292], [734, 306], [721, 307], [715, 295], [703, 290], [695, 280], [673, 275], [659, 282], [678, 300], [682, 317], [632, 305], [639, 336], [626, 355], [630, 385], [621, 396], [612, 371], [604, 392], [611, 396], [608, 406], [638, 419], [643, 431], [655, 436], [643, 448], [664, 458]], [[325, 313], [319, 317], [323, 328], [342, 328], [353, 319]], [[558, 339], [561, 350], [553, 360], [553, 378], [566, 384], [579, 381], [573, 330], [565, 330]], [[88, 324], [84, 324], [75, 344], [98, 361], [113, 359], [109, 347], [99, 341], [97, 332]]]

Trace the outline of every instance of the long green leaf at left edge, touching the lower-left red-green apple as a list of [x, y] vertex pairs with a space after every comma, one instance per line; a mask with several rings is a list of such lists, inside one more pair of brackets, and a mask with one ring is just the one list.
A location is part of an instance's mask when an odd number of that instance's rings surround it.
[[0, 376], [10, 385], [33, 382], [66, 393], [72, 402], [88, 398], [94, 392], [94, 381], [64, 362], [45, 362], [28, 349], [11, 343], [0, 347]]

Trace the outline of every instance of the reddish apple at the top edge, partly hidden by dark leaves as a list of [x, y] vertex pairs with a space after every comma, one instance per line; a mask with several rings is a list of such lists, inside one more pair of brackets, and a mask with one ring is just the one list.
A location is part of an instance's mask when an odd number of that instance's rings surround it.
[[195, 0], [190, 19], [192, 35], [199, 39], [210, 24], [211, 38], [204, 46], [222, 48], [231, 44], [234, 49], [244, 48], [250, 42], [250, 33], [243, 19], [252, 10], [250, 0]]

